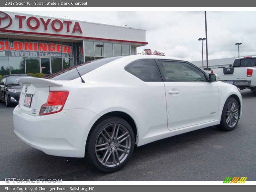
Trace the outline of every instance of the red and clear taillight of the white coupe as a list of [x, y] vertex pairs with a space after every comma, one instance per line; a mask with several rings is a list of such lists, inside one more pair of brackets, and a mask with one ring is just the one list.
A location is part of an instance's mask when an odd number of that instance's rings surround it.
[[49, 115], [60, 112], [68, 98], [68, 91], [50, 91], [47, 102], [42, 105], [39, 115]]

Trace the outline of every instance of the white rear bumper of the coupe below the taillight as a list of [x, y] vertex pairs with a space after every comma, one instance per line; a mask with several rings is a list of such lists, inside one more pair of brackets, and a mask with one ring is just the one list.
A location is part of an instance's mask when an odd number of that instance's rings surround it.
[[48, 155], [84, 157], [85, 143], [93, 123], [99, 118], [86, 109], [32, 116], [17, 106], [13, 111], [14, 132], [28, 145]]

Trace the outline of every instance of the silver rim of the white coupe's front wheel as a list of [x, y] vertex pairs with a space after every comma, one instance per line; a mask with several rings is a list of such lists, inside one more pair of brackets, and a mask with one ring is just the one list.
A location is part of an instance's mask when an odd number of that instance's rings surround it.
[[236, 125], [238, 120], [238, 105], [235, 101], [230, 101], [226, 109], [226, 123], [228, 127], [232, 128]]

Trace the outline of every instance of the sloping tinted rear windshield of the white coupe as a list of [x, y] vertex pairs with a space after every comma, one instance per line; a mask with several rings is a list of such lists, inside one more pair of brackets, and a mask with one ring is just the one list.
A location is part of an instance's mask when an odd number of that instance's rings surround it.
[[[105, 59], [93, 60], [80, 65], [77, 65], [76, 68], [79, 71], [80, 75], [83, 76], [90, 71], [99, 68], [111, 61], [117, 60], [120, 57], [110, 57]], [[46, 79], [52, 80], [73, 80], [79, 77], [75, 66], [59, 71], [58, 73], [52, 74], [51, 76], [46, 77]]]

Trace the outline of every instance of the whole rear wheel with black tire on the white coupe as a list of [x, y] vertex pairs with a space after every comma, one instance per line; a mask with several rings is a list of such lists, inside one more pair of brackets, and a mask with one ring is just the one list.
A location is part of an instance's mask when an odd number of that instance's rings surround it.
[[[122, 138], [118, 139], [120, 136]], [[117, 116], [108, 116], [97, 123], [89, 133], [85, 155], [99, 171], [116, 172], [131, 158], [134, 138], [132, 127], [127, 121]]]

